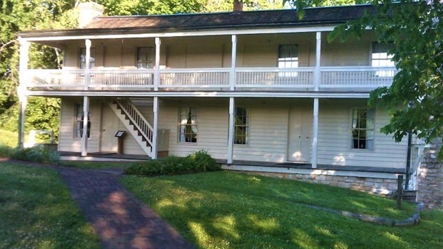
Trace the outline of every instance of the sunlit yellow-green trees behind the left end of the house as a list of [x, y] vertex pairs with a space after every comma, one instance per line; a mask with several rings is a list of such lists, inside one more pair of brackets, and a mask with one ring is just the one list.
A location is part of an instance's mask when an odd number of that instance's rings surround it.
[[[19, 44], [23, 30], [73, 28], [75, 0], [0, 1], [0, 128], [17, 130]], [[74, 21], [73, 21], [74, 20]], [[60, 68], [60, 50], [39, 44], [30, 47], [30, 68]], [[29, 98], [26, 129], [57, 129], [60, 104], [56, 99]], [[50, 120], [49, 120], [50, 119]]]

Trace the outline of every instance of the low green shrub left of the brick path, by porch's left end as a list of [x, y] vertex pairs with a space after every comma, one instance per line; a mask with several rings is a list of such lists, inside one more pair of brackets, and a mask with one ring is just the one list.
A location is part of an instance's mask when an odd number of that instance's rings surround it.
[[32, 147], [21, 149], [19, 147], [10, 151], [9, 157], [16, 160], [26, 160], [35, 163], [58, 163], [60, 156], [57, 151], [51, 151], [44, 147]]

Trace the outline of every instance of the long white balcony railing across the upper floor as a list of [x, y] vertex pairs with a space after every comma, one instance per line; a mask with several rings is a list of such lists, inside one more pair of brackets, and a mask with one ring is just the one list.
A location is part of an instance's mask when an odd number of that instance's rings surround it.
[[[159, 91], [228, 90], [230, 83], [239, 91], [364, 91], [390, 86], [397, 73], [395, 68], [371, 66], [320, 67], [318, 82], [315, 68], [235, 68], [235, 82], [230, 82], [230, 68], [161, 69]], [[91, 70], [90, 80], [84, 70], [28, 70], [28, 88], [42, 90], [141, 90], [154, 91], [154, 69]], [[89, 82], [89, 84], [87, 84]]]

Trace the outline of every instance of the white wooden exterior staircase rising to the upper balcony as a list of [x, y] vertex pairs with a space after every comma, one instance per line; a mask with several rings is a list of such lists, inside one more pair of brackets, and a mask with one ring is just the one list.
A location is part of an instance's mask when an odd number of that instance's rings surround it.
[[127, 132], [135, 138], [146, 155], [152, 157], [154, 129], [131, 100], [116, 98], [112, 102], [108, 102], [108, 105], [116, 113], [118, 119], [125, 124]]

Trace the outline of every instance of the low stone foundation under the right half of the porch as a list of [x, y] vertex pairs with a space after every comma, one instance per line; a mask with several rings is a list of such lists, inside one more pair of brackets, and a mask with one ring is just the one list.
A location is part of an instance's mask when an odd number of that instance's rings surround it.
[[246, 172], [246, 174], [257, 174], [260, 176], [271, 176], [290, 180], [304, 181], [307, 183], [320, 183], [336, 187], [359, 190], [371, 194], [390, 195], [397, 191], [397, 179], [370, 178], [356, 176], [332, 176], [319, 174], [291, 174], [273, 172]]

